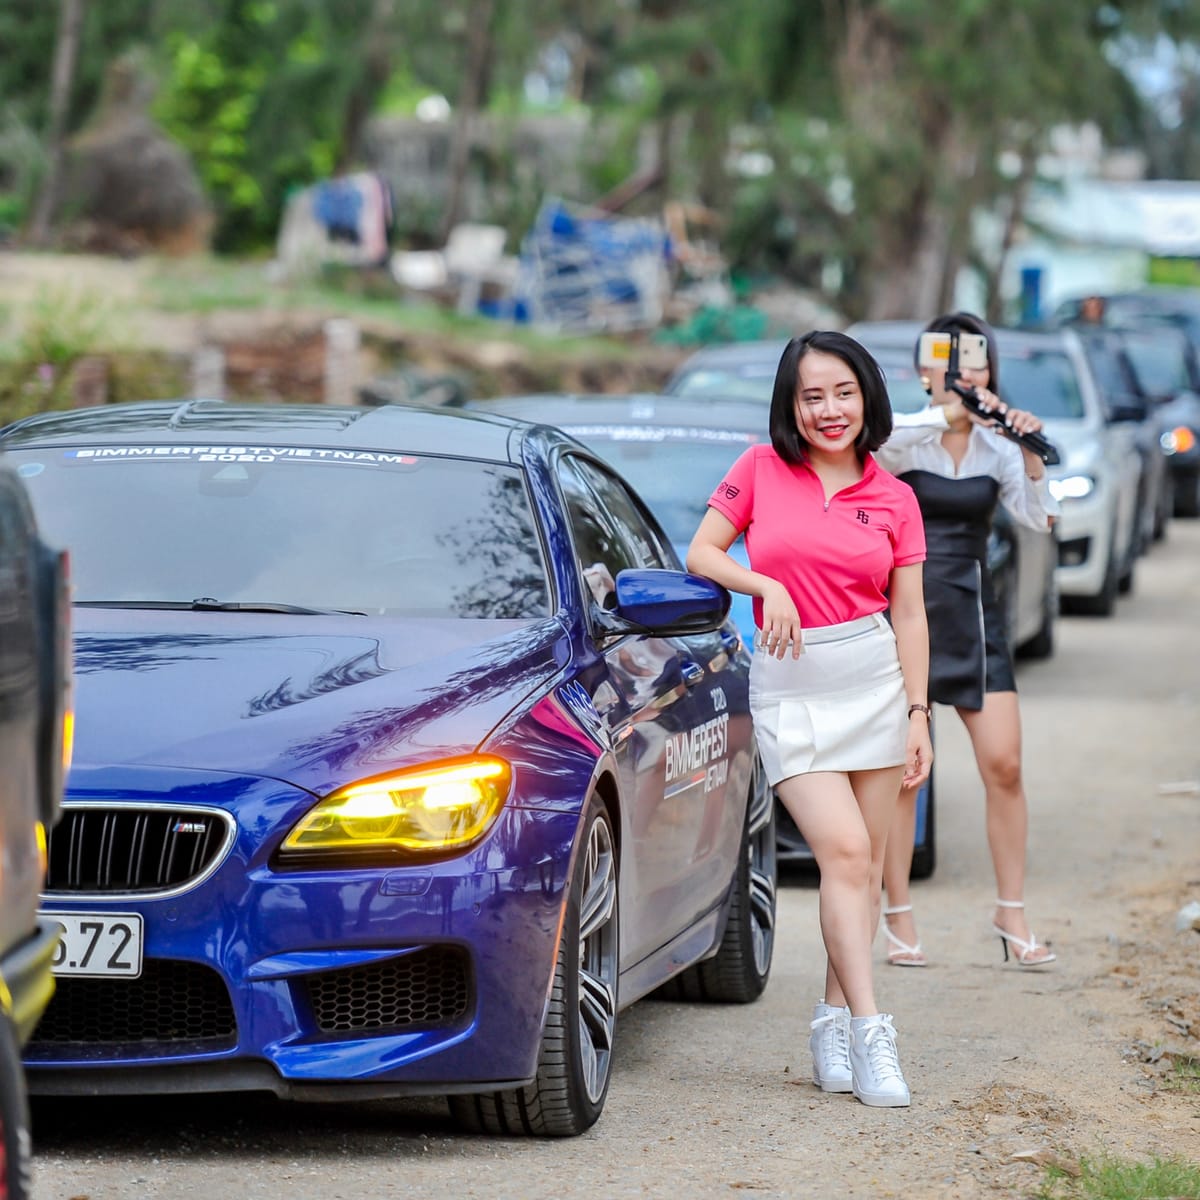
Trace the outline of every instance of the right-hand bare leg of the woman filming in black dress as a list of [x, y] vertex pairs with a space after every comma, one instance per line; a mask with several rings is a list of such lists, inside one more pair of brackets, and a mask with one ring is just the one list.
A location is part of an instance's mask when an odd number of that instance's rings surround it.
[[[974, 750], [986, 797], [988, 847], [1000, 900], [1025, 899], [1028, 808], [1021, 779], [1021, 715], [1015, 691], [990, 691], [979, 712], [959, 709]], [[997, 908], [996, 924], [1025, 941], [1024, 908]]]

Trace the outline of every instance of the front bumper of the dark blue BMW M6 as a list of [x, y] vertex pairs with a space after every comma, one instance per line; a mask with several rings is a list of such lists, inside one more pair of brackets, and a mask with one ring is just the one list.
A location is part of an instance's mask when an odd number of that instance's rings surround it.
[[486, 1091], [536, 1070], [578, 817], [506, 809], [467, 854], [280, 871], [241, 842], [192, 890], [73, 896], [139, 912], [140, 979], [59, 980], [34, 1094]]

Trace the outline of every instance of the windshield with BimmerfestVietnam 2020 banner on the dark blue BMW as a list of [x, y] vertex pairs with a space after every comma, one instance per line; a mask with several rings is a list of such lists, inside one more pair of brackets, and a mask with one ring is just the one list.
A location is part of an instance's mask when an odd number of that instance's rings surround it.
[[77, 602], [479, 618], [550, 610], [524, 480], [504, 466], [307, 446], [7, 457], [46, 536], [71, 552]]

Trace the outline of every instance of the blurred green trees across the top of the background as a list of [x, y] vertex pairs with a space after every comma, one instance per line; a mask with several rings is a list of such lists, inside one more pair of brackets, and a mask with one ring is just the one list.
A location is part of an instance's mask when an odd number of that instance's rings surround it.
[[[544, 191], [522, 122], [546, 119], [576, 131], [572, 199], [703, 206], [734, 281], [878, 317], [943, 307], [972, 265], [995, 313], [1056, 130], [1200, 178], [1194, 0], [2, 0], [0, 46], [14, 246], [145, 248], [96, 240], [107, 204], [182, 227], [157, 250], [265, 258], [292, 193], [418, 118], [449, 130], [446, 187], [402, 197], [394, 244], [464, 216], [516, 244]], [[102, 152], [118, 130], [133, 174]]]

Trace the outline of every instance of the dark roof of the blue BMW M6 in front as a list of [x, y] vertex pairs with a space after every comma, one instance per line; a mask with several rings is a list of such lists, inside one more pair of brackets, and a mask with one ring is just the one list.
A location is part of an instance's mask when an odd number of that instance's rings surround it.
[[244, 404], [218, 400], [148, 401], [40, 413], [0, 431], [7, 449], [32, 445], [286, 442], [288, 445], [404, 450], [493, 462], [517, 461], [522, 422], [500, 414], [380, 404]]

